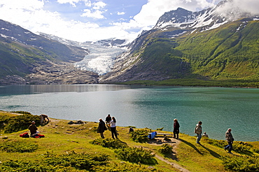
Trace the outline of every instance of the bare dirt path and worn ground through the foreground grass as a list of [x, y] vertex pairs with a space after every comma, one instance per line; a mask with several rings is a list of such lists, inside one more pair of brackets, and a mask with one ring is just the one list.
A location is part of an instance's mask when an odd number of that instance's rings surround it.
[[[177, 148], [177, 145], [179, 145], [179, 143], [181, 143], [181, 140], [179, 139], [174, 139], [174, 138], [167, 138], [167, 140], [164, 141], [163, 138], [161, 139], [153, 139], [153, 141], [150, 141], [149, 144], [153, 144], [153, 145], [162, 145], [162, 144], [169, 144], [169, 145], [172, 145], [172, 148], [173, 148], [173, 153], [172, 153], [172, 159], [174, 160], [177, 160], [177, 157], [176, 157], [176, 148]], [[179, 171], [183, 171], [183, 172], [190, 172], [188, 171], [187, 169], [183, 168], [183, 166], [180, 166], [179, 164], [176, 164], [174, 162], [169, 162], [167, 159], [165, 159], [164, 157], [161, 157], [159, 155], [155, 155], [155, 157], [157, 159], [160, 159], [161, 161], [163, 162], [166, 162], [167, 164], [170, 164], [172, 166], [174, 166], [175, 169], [178, 169]]]

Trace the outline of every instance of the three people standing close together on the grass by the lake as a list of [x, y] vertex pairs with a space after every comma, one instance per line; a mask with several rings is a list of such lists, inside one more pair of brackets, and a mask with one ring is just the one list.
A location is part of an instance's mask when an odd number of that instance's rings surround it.
[[101, 135], [102, 138], [104, 138], [104, 131], [107, 130], [107, 128], [111, 131], [111, 137], [118, 138], [118, 133], [116, 130], [116, 119], [115, 117], [111, 117], [110, 114], [107, 115], [105, 118], [105, 123], [102, 120], [102, 118], [99, 119], [99, 125], [97, 128], [97, 133]]

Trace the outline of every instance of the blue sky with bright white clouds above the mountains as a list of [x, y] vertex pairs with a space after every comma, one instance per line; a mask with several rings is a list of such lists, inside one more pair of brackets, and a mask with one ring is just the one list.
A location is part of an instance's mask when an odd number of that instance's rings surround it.
[[[221, 0], [0, 0], [0, 19], [72, 41], [125, 38], [152, 29], [165, 12], [197, 11]], [[237, 1], [237, 4], [244, 0]], [[246, 0], [258, 10], [258, 0]]]

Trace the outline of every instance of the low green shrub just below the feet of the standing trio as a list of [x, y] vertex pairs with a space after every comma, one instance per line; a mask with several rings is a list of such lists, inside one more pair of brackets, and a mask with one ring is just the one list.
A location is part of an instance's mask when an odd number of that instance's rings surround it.
[[94, 141], [90, 141], [90, 143], [94, 145], [102, 145], [104, 148], [114, 148], [114, 149], [120, 149], [120, 148], [126, 148], [127, 143], [124, 143], [118, 139], [111, 139], [111, 138], [97, 138]]

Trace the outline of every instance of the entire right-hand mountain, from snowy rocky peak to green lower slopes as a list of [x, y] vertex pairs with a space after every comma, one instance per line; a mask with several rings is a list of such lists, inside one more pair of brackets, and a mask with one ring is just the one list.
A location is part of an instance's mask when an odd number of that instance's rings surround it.
[[200, 12], [178, 8], [165, 13], [132, 42], [100, 82], [259, 80], [258, 17], [243, 11], [222, 15], [218, 11], [224, 4]]

